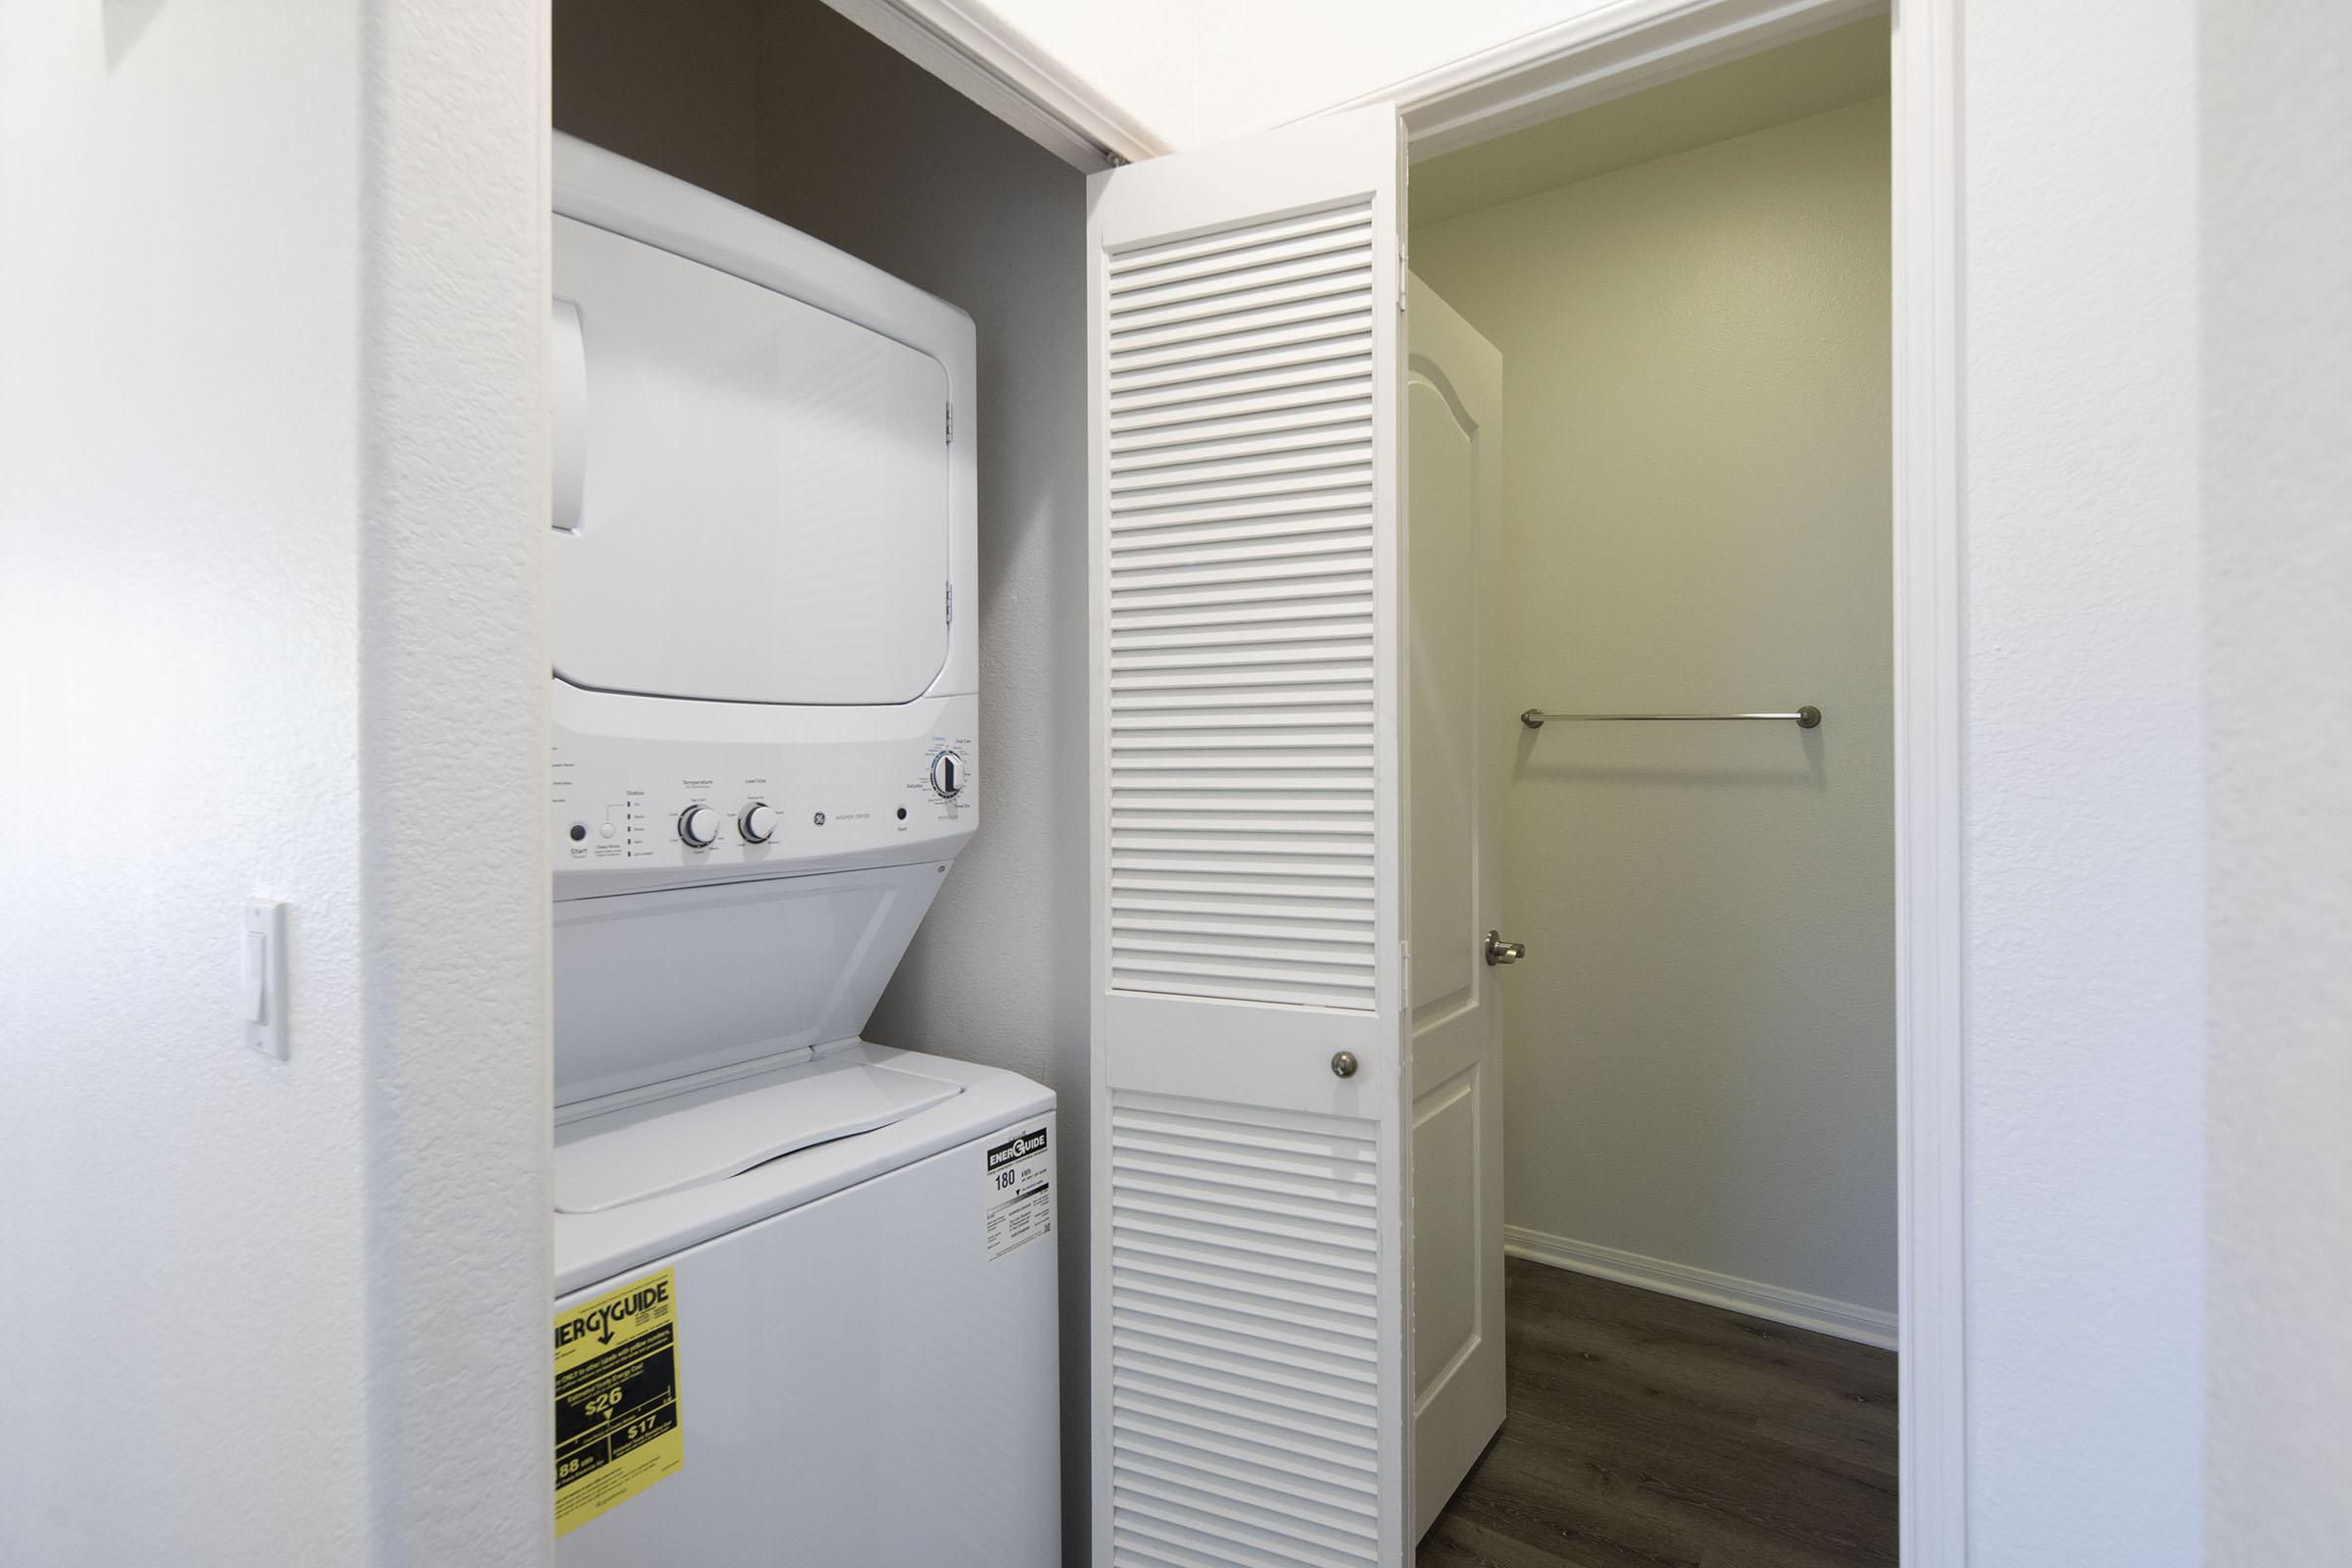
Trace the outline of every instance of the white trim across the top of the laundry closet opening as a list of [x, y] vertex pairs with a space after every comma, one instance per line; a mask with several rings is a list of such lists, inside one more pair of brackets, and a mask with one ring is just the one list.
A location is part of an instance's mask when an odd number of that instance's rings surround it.
[[898, 54], [1075, 169], [1160, 158], [1169, 143], [969, 0], [826, 0]]

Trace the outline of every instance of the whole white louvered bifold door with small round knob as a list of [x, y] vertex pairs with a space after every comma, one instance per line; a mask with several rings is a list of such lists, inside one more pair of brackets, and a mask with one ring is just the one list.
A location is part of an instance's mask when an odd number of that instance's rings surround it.
[[1098, 1568], [1406, 1556], [1399, 240], [1385, 108], [1091, 186]]

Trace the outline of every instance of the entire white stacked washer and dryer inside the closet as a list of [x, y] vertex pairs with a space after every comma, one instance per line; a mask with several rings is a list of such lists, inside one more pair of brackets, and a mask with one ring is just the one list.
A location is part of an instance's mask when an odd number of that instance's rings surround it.
[[555, 141], [557, 1561], [1051, 1563], [1054, 1095], [858, 1039], [978, 825], [971, 322]]

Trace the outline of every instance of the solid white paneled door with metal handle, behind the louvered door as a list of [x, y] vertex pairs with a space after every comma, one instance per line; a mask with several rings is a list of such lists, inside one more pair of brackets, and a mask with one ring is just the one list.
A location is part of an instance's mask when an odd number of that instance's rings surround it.
[[1503, 1425], [1503, 973], [1494, 835], [1503, 355], [1418, 277], [1404, 374], [1411, 820], [1414, 1537]]

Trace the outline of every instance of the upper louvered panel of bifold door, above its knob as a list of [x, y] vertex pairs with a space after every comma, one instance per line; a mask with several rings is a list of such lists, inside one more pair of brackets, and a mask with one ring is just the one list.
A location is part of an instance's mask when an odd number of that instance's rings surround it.
[[1221, 889], [1115, 886], [1115, 990], [1374, 1006], [1369, 275], [1362, 202], [1110, 259], [1110, 863]]

